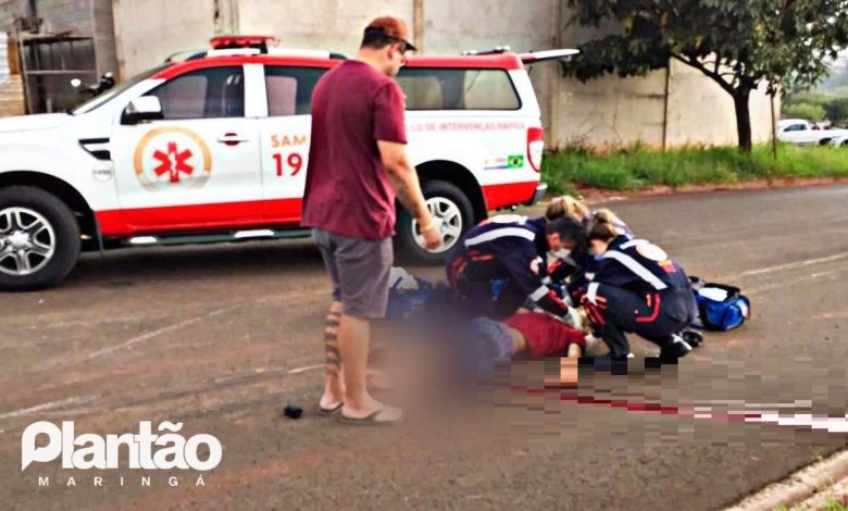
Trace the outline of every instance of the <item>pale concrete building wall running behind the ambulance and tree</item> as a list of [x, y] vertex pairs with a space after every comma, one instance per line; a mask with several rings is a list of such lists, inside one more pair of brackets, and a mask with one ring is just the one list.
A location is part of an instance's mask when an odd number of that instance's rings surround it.
[[[396, 15], [404, 18], [411, 29], [414, 26], [414, 0], [185, 0], [184, 4], [186, 8], [177, 11], [170, 0], [113, 1], [124, 78], [159, 64], [174, 52], [205, 48], [216, 34], [273, 35], [287, 48], [354, 53], [364, 25], [373, 17]], [[569, 25], [565, 0], [423, 0], [423, 11], [426, 53], [504, 45], [516, 51], [568, 48], [613, 29]], [[529, 73], [549, 147], [574, 141], [621, 146], [637, 140], [661, 147], [663, 126], [669, 146], [736, 141], [729, 96], [678, 62], [672, 63], [668, 75], [668, 101], [665, 70], [645, 77], [608, 76], [587, 84], [563, 78], [556, 63], [535, 65]], [[770, 103], [762, 92], [751, 99], [751, 124], [756, 141], [769, 139]]]

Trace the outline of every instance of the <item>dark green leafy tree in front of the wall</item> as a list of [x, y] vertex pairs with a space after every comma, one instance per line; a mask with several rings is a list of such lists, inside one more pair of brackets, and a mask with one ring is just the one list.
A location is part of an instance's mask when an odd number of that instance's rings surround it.
[[[570, 23], [610, 35], [581, 45], [564, 66], [582, 80], [644, 75], [671, 59], [712, 78], [736, 110], [739, 149], [751, 151], [751, 91], [818, 83], [848, 46], [848, 0], [569, 0]], [[608, 32], [606, 32], [608, 33]]]

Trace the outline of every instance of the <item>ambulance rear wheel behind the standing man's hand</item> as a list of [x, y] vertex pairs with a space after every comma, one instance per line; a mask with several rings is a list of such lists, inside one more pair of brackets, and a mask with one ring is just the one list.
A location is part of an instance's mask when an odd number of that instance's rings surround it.
[[459, 235], [446, 234], [444, 239], [447, 246], [436, 251], [424, 249], [416, 241], [415, 223], [409, 213], [398, 207], [398, 223], [396, 226], [395, 250], [398, 260], [408, 264], [423, 264], [436, 266], [445, 262], [445, 256], [462, 236], [474, 226], [474, 209], [471, 200], [456, 185], [444, 180], [428, 180], [422, 184], [421, 191], [428, 205], [434, 205], [444, 219], [453, 226], [459, 227]]

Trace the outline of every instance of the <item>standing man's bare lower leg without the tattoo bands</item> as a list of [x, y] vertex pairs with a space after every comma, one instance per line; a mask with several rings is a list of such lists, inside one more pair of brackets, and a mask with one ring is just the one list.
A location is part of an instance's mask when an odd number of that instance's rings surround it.
[[369, 340], [371, 322], [362, 317], [341, 315], [338, 329], [338, 347], [345, 361], [345, 407], [341, 414], [349, 419], [364, 419], [383, 409], [375, 421], [397, 421], [401, 411], [385, 407], [371, 397], [366, 386]]

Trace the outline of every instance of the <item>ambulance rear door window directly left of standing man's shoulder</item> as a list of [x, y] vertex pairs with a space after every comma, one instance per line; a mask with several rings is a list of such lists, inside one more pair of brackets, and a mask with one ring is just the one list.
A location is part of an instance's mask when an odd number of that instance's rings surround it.
[[323, 67], [266, 65], [267, 115], [309, 115], [312, 90], [326, 72]]

